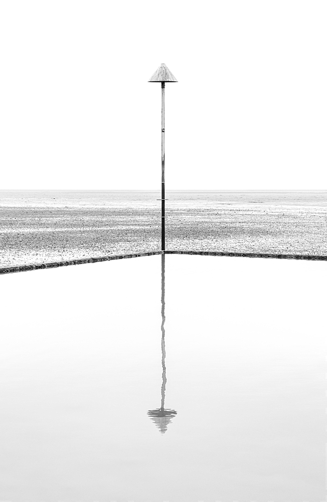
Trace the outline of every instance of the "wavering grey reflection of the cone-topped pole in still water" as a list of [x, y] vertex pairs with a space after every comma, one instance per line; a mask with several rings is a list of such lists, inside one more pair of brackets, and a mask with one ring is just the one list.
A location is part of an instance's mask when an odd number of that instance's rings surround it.
[[168, 424], [177, 415], [177, 411], [165, 409], [166, 395], [166, 347], [165, 347], [165, 254], [161, 255], [161, 364], [162, 364], [162, 384], [161, 384], [161, 405], [156, 410], [149, 410], [148, 416], [155, 423], [161, 434], [167, 431]]

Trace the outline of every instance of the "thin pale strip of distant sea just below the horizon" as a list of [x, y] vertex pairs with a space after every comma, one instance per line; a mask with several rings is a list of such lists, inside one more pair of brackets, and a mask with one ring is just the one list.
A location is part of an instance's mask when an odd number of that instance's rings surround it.
[[[327, 190], [167, 191], [167, 207], [327, 206]], [[0, 207], [159, 207], [150, 190], [0, 190]]]

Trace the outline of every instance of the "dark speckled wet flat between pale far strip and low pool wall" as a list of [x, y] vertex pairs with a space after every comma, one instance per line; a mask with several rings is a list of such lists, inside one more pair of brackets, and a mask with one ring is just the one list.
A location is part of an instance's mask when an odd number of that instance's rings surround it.
[[[167, 249], [327, 256], [327, 207], [172, 204]], [[160, 210], [0, 207], [0, 267], [158, 251]]]

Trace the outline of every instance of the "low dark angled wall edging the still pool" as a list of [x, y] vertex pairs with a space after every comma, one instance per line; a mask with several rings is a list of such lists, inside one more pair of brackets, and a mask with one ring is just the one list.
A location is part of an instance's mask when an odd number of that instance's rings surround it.
[[[137, 258], [141, 256], [161, 255], [161, 251], [150, 251], [144, 253], [126, 253], [122, 255], [107, 255], [93, 258], [77, 258], [76, 260], [65, 260], [61, 262], [40, 263], [31, 265], [18, 265], [15, 267], [2, 267], [0, 274], [12, 274], [15, 272], [27, 272], [30, 270], [53, 269], [67, 267], [68, 265], [81, 265], [83, 263], [108, 262], [110, 260], [122, 260], [124, 258]], [[235, 258], [275, 258], [279, 260], [311, 260], [327, 261], [327, 256], [318, 255], [274, 255], [268, 253], [227, 253], [218, 251], [165, 251], [166, 255], [200, 255], [200, 256], [227, 256]]]

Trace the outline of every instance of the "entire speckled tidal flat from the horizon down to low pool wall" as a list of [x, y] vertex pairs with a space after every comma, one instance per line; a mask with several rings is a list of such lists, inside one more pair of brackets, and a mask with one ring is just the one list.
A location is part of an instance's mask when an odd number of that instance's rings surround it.
[[[0, 195], [0, 267], [160, 249], [156, 192]], [[168, 197], [168, 250], [327, 256], [326, 192]]]

